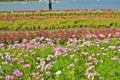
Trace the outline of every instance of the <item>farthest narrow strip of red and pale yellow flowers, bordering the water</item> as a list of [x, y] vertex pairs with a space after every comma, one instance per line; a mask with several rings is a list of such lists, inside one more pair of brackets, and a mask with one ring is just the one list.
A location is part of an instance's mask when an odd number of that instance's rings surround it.
[[0, 11], [2, 16], [63, 16], [63, 15], [106, 15], [106, 14], [119, 14], [119, 10], [40, 10], [40, 11]]

